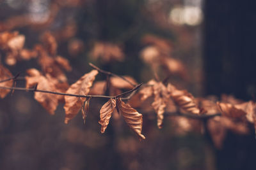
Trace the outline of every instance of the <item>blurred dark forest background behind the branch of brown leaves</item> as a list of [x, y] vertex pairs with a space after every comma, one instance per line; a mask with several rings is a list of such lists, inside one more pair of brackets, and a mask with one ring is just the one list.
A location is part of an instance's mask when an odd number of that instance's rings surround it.
[[[255, 99], [255, 23], [251, 0], [0, 0], [0, 32], [24, 34], [28, 49], [51, 32], [57, 54], [72, 66], [69, 84], [92, 62], [138, 83], [167, 76], [195, 97]], [[5, 55], [1, 62], [13, 74], [40, 69], [35, 59], [15, 64]], [[160, 55], [165, 64], [156, 61]], [[140, 142], [118, 118], [100, 133], [104, 102], [92, 99], [84, 125], [81, 113], [64, 124], [63, 104], [49, 115], [29, 92], [1, 99], [0, 169], [255, 169], [254, 130], [228, 131], [218, 148], [198, 128], [202, 122], [166, 117], [158, 129], [156, 117], [145, 115]]]

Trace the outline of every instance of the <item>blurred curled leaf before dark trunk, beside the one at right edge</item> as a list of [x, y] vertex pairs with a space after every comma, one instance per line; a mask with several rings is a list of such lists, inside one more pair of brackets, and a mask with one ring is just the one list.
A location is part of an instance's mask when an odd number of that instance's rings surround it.
[[217, 102], [217, 106], [225, 117], [241, 118], [246, 115], [246, 112], [239, 109], [237, 105]]

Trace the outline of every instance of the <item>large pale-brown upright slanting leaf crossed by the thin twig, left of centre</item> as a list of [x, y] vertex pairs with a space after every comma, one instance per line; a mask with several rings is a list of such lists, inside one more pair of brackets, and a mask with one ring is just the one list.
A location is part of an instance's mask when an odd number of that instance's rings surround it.
[[[90, 87], [95, 80], [95, 76], [98, 74], [97, 70], [92, 70], [90, 73], [84, 74], [76, 83], [72, 84], [66, 93], [77, 94], [77, 95], [87, 95], [90, 92]], [[65, 96], [65, 124], [69, 120], [74, 118], [78, 111], [81, 109], [82, 103], [85, 101], [84, 98], [79, 99], [74, 96]]]

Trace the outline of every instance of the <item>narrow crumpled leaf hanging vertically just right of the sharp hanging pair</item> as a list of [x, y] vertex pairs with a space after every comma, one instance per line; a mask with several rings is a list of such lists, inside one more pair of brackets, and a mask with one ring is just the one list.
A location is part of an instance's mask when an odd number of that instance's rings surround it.
[[163, 119], [164, 119], [164, 109], [168, 102], [168, 91], [162, 82], [158, 82], [153, 86], [154, 90], [154, 102], [152, 106], [157, 113], [157, 126], [159, 129], [162, 128]]

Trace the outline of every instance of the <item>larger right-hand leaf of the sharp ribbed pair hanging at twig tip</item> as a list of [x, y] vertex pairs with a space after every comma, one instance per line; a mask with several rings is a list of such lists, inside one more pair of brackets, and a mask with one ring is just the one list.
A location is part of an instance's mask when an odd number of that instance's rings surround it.
[[138, 111], [134, 110], [129, 104], [125, 104], [121, 98], [117, 99], [118, 111], [124, 117], [125, 122], [132, 131], [136, 132], [140, 139], [145, 139], [145, 136], [141, 134], [142, 131], [142, 115]]

